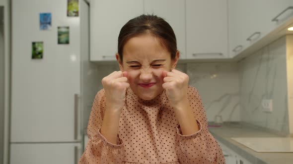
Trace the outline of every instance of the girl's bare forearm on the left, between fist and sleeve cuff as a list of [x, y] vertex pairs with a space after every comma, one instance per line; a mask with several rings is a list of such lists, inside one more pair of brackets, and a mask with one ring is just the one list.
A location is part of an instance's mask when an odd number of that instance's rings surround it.
[[[111, 108], [111, 107], [109, 107]], [[101, 126], [101, 134], [112, 144], [117, 143], [117, 136], [119, 130], [119, 120], [120, 120], [121, 110], [108, 109], [106, 107], [105, 115], [103, 118], [103, 123]]]

